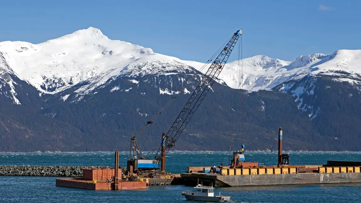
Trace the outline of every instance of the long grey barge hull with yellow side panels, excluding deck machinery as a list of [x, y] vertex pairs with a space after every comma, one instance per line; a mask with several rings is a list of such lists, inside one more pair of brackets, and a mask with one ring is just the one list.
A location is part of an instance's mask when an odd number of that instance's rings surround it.
[[318, 167], [318, 172], [299, 173], [298, 168], [237, 168], [217, 173], [182, 173], [186, 185], [224, 186], [293, 185], [361, 182], [361, 167]]

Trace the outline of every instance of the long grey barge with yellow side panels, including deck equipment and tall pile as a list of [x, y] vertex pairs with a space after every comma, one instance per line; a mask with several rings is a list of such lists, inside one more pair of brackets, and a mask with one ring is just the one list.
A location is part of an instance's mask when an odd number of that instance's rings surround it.
[[233, 152], [230, 166], [188, 167], [181, 173], [185, 185], [204, 184], [222, 186], [260, 186], [325, 183], [361, 182], [361, 162], [327, 161], [326, 165], [289, 165], [289, 155], [282, 154], [282, 128], [278, 134], [278, 164], [260, 165], [245, 162], [244, 145], [242, 151]]

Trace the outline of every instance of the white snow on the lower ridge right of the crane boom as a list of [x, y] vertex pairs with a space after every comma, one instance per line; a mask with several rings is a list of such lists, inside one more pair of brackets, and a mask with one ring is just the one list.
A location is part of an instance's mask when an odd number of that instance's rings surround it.
[[[203, 65], [191, 61], [188, 64], [192, 64], [197, 69]], [[257, 91], [271, 89], [289, 79], [302, 78], [308, 74], [337, 74], [335, 73], [337, 71], [360, 74], [360, 64], [361, 50], [338, 50], [331, 55], [315, 53], [299, 56], [295, 61], [282, 61], [258, 55], [243, 59], [239, 63], [238, 61], [227, 63], [219, 79], [225, 81], [232, 88]], [[242, 78], [237, 76], [237, 69], [242, 69], [242, 66], [243, 84]], [[205, 71], [206, 69], [203, 70], [203, 73]]]

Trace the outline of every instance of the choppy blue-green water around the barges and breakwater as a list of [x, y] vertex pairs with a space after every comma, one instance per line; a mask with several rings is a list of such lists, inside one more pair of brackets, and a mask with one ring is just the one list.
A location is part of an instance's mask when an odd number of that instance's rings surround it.
[[[326, 164], [327, 160], [361, 160], [361, 152], [288, 152], [290, 164]], [[127, 152], [119, 152], [125, 165]], [[228, 164], [229, 152], [169, 152], [166, 170], [182, 173], [187, 166]], [[265, 165], [277, 163], [277, 152], [247, 152], [246, 160]], [[0, 153], [0, 165], [114, 165], [114, 152]], [[183, 185], [151, 186], [142, 190], [92, 191], [55, 186], [56, 177], [0, 176], [0, 202], [182, 202], [189, 200]], [[360, 202], [361, 183], [221, 187], [237, 203]]]

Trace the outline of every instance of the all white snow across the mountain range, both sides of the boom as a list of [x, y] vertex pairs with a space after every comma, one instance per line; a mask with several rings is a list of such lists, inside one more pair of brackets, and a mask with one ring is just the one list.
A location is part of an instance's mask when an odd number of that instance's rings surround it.
[[[201, 69], [205, 64], [111, 40], [93, 27], [40, 44], [0, 42], [0, 53], [6, 56], [3, 57], [5, 62], [17, 77], [49, 94], [77, 84], [81, 87], [76, 92], [87, 94], [117, 77], [196, 74], [196, 70], [205, 73], [210, 66], [207, 64]], [[330, 73], [332, 70], [358, 74], [361, 73], [360, 63], [361, 50], [338, 50], [331, 55], [317, 53], [297, 57], [295, 61], [258, 55], [227, 63], [219, 79], [231, 88], [256, 91], [271, 89], [308, 74], [335, 74]], [[240, 64], [243, 66], [243, 84]]]

